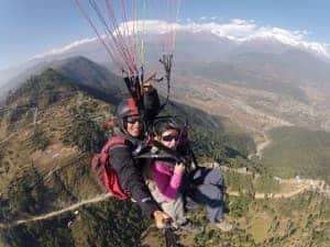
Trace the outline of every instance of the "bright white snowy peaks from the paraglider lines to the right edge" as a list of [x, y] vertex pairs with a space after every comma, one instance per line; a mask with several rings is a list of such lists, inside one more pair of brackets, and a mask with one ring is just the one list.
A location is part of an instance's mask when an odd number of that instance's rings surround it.
[[[307, 52], [324, 56], [330, 59], [330, 44], [318, 42], [308, 42], [306, 40], [309, 34], [307, 31], [289, 31], [280, 27], [261, 26], [254, 21], [245, 21], [235, 19], [229, 23], [166, 23], [164, 21], [140, 21], [129, 22], [120, 25], [120, 29], [125, 29], [122, 33], [132, 34], [146, 32], [153, 35], [165, 34], [176, 31], [179, 34], [212, 34], [220, 40], [229, 40], [238, 46], [258, 46], [261, 52], [270, 52], [265, 49], [272, 46], [274, 52], [282, 52], [282, 46], [290, 48], [299, 48]], [[128, 33], [129, 31], [129, 33]], [[266, 45], [266, 47], [265, 47]], [[272, 52], [272, 50], [271, 50]]]

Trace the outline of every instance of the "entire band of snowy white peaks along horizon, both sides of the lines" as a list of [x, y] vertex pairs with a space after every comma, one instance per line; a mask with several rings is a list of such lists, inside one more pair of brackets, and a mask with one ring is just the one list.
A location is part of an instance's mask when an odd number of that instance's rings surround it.
[[[298, 48], [330, 59], [330, 44], [308, 42], [306, 40], [308, 35], [307, 31], [289, 31], [279, 27], [261, 26], [254, 21], [235, 19], [229, 23], [178, 24], [148, 20], [128, 22], [121, 24], [119, 29], [125, 29], [121, 31], [122, 34], [125, 35], [141, 34], [143, 32], [146, 35], [147, 42], [157, 41], [157, 37], [162, 37], [164, 34], [175, 31], [177, 41], [180, 38], [184, 40], [185, 37], [190, 40], [190, 42], [208, 42], [212, 40], [221, 43], [220, 49], [228, 46], [230, 48], [246, 47], [250, 49], [253, 47], [255, 52], [283, 53], [287, 49]], [[99, 46], [98, 38], [84, 38], [64, 47], [35, 55], [31, 61], [52, 56], [68, 55], [70, 53], [82, 53], [81, 55], [85, 56], [89, 53], [89, 56], [94, 56], [92, 53], [96, 50], [92, 50], [92, 47], [95, 46]]]

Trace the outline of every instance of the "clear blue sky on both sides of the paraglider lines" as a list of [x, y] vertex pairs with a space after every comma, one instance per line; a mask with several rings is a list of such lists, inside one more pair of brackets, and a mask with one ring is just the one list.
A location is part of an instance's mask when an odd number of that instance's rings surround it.
[[[180, 0], [178, 21], [253, 20], [330, 44], [329, 12], [328, 0]], [[75, 0], [0, 0], [0, 70], [94, 36]]]

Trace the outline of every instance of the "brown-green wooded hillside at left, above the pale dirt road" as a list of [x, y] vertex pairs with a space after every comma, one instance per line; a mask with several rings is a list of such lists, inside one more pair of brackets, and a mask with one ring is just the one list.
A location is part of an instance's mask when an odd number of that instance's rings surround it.
[[13, 92], [6, 109], [0, 120], [0, 218], [61, 209], [100, 192], [90, 175], [90, 156], [106, 136], [95, 119], [111, 116], [113, 106], [50, 69]]

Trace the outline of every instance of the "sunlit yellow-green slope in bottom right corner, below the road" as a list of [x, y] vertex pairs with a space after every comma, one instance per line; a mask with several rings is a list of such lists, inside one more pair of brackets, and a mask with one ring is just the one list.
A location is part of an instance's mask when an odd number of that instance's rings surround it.
[[294, 199], [255, 201], [241, 195], [230, 200], [232, 206], [245, 205], [242, 215], [232, 215], [235, 231], [221, 234], [206, 228], [191, 246], [329, 246], [330, 201], [322, 197], [305, 193]]

